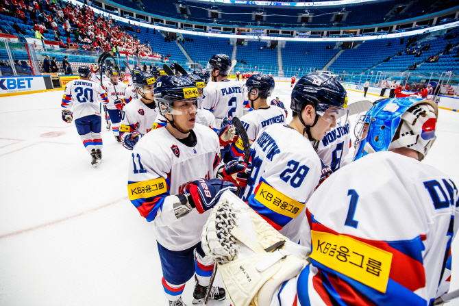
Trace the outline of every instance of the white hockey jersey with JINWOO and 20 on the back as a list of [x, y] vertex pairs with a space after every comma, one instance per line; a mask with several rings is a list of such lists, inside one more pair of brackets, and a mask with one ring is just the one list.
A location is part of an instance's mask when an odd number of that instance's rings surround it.
[[72, 109], [75, 120], [84, 116], [100, 115], [99, 102], [108, 102], [106, 92], [99, 84], [74, 79], [65, 86], [61, 106]]

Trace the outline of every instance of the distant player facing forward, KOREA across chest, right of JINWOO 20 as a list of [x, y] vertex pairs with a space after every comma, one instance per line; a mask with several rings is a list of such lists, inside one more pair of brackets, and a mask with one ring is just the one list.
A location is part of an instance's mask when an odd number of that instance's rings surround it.
[[106, 103], [110, 121], [112, 122], [113, 135], [117, 142], [121, 142], [119, 138], [119, 125], [121, 123], [121, 110], [127, 100], [124, 99], [126, 84], [119, 81], [119, 73], [115, 68], [109, 67], [107, 75], [110, 81], [103, 82], [103, 88], [107, 92], [108, 103]]

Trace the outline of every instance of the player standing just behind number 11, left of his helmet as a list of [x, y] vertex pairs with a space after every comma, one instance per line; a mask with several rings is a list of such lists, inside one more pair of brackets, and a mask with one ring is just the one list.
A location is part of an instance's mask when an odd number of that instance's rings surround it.
[[140, 71], [134, 74], [132, 81], [139, 98], [123, 108], [123, 119], [119, 129], [123, 146], [128, 150], [134, 149], [138, 140], [151, 131], [159, 114], [153, 100], [155, 77], [147, 71]]

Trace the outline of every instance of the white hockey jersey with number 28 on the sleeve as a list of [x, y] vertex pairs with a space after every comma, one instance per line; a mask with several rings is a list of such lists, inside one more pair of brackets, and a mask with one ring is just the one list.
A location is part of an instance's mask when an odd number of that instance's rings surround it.
[[305, 203], [321, 177], [319, 156], [301, 133], [274, 124], [260, 131], [251, 157], [244, 201], [280, 233], [298, 242]]

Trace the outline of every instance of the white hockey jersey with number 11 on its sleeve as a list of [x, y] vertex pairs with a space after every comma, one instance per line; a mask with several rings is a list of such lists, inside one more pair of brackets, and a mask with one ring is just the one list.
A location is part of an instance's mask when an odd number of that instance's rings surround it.
[[200, 242], [211, 212], [199, 214], [193, 209], [180, 220], [173, 212], [173, 195], [184, 193], [197, 179], [214, 178], [220, 162], [216, 133], [203, 125], [195, 125], [193, 131], [194, 147], [182, 144], [167, 129], [150, 131], [136, 144], [129, 165], [129, 200], [141, 216], [153, 222], [156, 240], [171, 251]]

